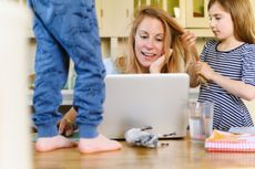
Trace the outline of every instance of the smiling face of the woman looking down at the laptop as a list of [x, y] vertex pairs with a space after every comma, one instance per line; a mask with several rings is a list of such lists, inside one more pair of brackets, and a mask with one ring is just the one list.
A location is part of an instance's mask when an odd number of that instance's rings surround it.
[[164, 29], [155, 18], [145, 17], [135, 34], [135, 55], [139, 63], [150, 67], [163, 54]]

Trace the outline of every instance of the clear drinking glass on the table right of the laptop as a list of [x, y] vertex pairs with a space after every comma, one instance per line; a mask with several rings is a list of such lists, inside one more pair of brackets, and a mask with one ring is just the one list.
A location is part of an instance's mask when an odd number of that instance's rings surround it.
[[192, 140], [205, 140], [213, 133], [213, 109], [211, 102], [188, 104], [190, 136]]

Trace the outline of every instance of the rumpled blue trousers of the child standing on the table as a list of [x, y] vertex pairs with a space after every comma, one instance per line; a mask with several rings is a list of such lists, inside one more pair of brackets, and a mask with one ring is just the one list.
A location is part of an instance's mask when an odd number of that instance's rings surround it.
[[76, 80], [73, 106], [80, 137], [98, 136], [105, 97], [105, 70], [93, 0], [29, 0], [37, 39], [33, 106], [39, 137], [58, 135], [61, 89], [68, 80], [69, 60]]

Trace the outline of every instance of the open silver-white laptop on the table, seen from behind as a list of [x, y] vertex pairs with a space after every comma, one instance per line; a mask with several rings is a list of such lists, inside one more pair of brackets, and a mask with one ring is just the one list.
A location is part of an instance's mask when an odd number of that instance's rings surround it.
[[160, 138], [185, 137], [188, 86], [184, 73], [106, 75], [100, 133], [124, 139], [126, 130], [151, 126]]

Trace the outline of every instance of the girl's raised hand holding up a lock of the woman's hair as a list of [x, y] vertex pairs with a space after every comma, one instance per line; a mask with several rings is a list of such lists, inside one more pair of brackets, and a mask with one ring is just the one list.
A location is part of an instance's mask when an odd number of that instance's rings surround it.
[[180, 38], [185, 51], [188, 51], [191, 46], [195, 45], [196, 36], [194, 33], [186, 31]]

